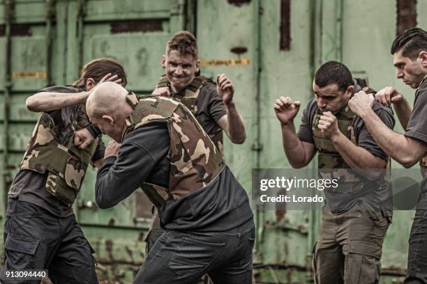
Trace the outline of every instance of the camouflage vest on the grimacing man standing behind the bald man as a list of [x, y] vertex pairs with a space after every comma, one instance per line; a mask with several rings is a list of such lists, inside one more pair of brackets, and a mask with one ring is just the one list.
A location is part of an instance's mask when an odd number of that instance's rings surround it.
[[[190, 85], [186, 87], [183, 92], [175, 93], [172, 95], [172, 99], [176, 100], [177, 102], [181, 102], [184, 106], [186, 106], [191, 113], [193, 113], [193, 116], [197, 118], [197, 120], [200, 121], [198, 117], [198, 111], [197, 111], [197, 98], [199, 97], [200, 90], [207, 84], [212, 83], [213, 81], [209, 79], [208, 77], [204, 76], [197, 76], [193, 79]], [[170, 83], [167, 81], [166, 75], [163, 75], [160, 77], [156, 88], [163, 88], [163, 87], [169, 87]], [[216, 148], [220, 150], [221, 155], [223, 155], [223, 149], [224, 149], [224, 143], [223, 143], [223, 130], [219, 129], [218, 132], [209, 134], [209, 137], [213, 141], [213, 143], [216, 145]]]

